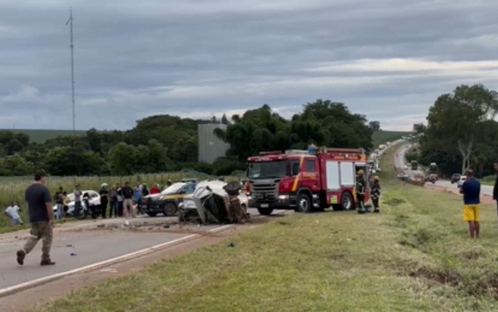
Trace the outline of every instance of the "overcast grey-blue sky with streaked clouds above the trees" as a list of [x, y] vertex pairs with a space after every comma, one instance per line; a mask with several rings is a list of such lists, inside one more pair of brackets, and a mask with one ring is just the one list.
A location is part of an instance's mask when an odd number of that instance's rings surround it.
[[318, 98], [385, 130], [459, 84], [498, 89], [497, 0], [2, 0], [0, 128], [129, 129]]

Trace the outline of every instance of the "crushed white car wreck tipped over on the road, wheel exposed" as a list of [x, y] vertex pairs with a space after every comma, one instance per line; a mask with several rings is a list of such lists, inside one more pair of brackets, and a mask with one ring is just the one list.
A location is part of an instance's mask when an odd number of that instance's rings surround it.
[[244, 223], [249, 218], [247, 203], [241, 202], [239, 195], [238, 182], [199, 182], [194, 193], [185, 196], [179, 205], [178, 219], [201, 224]]

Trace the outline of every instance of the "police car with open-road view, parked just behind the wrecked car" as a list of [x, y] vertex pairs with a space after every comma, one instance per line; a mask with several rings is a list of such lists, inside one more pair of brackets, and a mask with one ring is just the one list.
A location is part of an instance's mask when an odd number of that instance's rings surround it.
[[159, 213], [164, 216], [173, 216], [178, 212], [178, 205], [183, 198], [195, 190], [193, 182], [178, 182], [171, 184], [159, 194], [145, 196], [139, 203], [138, 209], [151, 217]]

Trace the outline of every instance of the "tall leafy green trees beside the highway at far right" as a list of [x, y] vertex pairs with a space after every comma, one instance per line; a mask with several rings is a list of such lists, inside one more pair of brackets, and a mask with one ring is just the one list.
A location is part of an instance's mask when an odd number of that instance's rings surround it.
[[478, 176], [494, 174], [498, 160], [498, 93], [482, 84], [460, 85], [440, 95], [429, 108], [427, 125], [415, 124], [424, 133], [419, 161], [436, 162], [446, 176], [473, 168]]

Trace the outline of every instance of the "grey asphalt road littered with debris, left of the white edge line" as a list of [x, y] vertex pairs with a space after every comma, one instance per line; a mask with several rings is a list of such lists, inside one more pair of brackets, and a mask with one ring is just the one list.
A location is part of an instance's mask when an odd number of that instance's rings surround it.
[[[252, 216], [259, 215], [256, 209], [249, 208], [248, 212]], [[123, 228], [124, 219], [119, 218], [96, 222], [72, 222], [57, 231], [54, 230], [51, 257], [56, 265], [50, 267], [39, 265], [41, 241], [26, 256], [24, 266], [17, 265], [15, 253], [24, 245], [28, 236], [27, 231], [1, 235], [0, 291], [221, 227], [221, 225], [164, 227], [166, 223], [176, 221], [176, 217], [145, 216], [128, 220], [131, 225], [141, 224], [141, 226], [134, 231]]]

